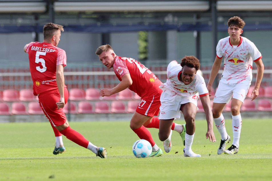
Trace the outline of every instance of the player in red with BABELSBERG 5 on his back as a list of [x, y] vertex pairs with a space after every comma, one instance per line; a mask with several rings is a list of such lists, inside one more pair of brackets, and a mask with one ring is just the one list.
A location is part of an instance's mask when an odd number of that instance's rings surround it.
[[47, 23], [43, 27], [43, 42], [31, 42], [25, 45], [28, 53], [29, 68], [33, 80], [33, 94], [38, 96], [39, 104], [51, 123], [56, 137], [53, 154], [65, 152], [62, 134], [76, 144], [94, 152], [101, 158], [107, 157], [106, 149], [89, 142], [82, 134], [70, 128], [63, 107], [68, 100], [67, 87], [64, 84], [63, 67], [66, 66], [66, 53], [57, 47], [63, 26]]

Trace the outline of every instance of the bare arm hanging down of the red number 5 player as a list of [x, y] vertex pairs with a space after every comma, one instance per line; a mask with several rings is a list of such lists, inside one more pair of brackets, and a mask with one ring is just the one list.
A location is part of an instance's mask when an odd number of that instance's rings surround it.
[[59, 102], [56, 102], [57, 109], [63, 108], [65, 106], [64, 102], [64, 75], [63, 75], [63, 65], [57, 65], [56, 69], [56, 82], [57, 88], [59, 90]]

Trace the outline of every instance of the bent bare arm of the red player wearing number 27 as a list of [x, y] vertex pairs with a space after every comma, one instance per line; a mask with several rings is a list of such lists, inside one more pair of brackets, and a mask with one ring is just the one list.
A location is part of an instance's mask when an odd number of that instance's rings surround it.
[[110, 96], [112, 94], [116, 94], [117, 92], [121, 92], [132, 85], [132, 79], [131, 79], [129, 73], [124, 74], [121, 79], [122, 79], [122, 81], [116, 87], [112, 88], [111, 90], [100, 89], [100, 95], [102, 97]]

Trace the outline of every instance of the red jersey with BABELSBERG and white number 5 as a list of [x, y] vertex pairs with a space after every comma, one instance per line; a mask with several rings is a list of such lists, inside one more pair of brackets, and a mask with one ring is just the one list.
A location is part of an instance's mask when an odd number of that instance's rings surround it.
[[33, 94], [57, 89], [56, 66], [66, 66], [65, 51], [50, 43], [33, 42], [26, 47], [26, 53], [33, 81]]

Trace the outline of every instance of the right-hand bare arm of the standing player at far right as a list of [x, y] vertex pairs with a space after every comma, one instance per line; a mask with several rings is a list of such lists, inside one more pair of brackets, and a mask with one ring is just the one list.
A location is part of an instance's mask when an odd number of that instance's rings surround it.
[[251, 93], [251, 100], [254, 100], [259, 95], [259, 88], [261, 85], [261, 81], [263, 79], [263, 71], [264, 71], [264, 65], [262, 59], [259, 59], [255, 62], [257, 66], [257, 77], [255, 82], [255, 87]]

